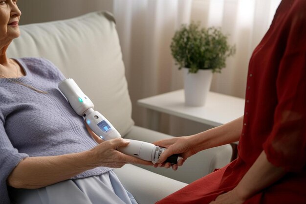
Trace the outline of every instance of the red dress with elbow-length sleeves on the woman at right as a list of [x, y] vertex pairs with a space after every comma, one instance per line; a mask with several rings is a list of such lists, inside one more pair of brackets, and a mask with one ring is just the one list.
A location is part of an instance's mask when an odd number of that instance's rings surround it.
[[288, 173], [245, 204], [306, 204], [306, 0], [283, 0], [249, 63], [239, 156], [156, 204], [208, 204], [262, 151]]

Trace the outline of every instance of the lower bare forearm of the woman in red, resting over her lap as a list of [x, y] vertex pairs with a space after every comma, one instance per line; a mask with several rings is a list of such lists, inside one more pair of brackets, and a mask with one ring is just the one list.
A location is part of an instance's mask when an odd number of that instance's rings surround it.
[[243, 200], [247, 200], [263, 188], [281, 179], [285, 173], [283, 168], [271, 164], [265, 152], [262, 151], [235, 188], [236, 193]]

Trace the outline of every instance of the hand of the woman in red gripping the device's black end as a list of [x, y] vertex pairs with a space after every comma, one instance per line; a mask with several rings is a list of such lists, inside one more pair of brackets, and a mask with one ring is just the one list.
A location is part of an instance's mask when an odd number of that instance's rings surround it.
[[[191, 136], [181, 136], [153, 142], [153, 144], [157, 146], [167, 148], [167, 150], [161, 154], [158, 163], [154, 164], [154, 167], [164, 166], [165, 168], [170, 168], [171, 166], [173, 170], [177, 170], [177, 167], [183, 165], [187, 158], [197, 153], [194, 145], [190, 142], [190, 137]], [[169, 162], [163, 163], [168, 157], [174, 154], [179, 154], [183, 159], [180, 159], [177, 164], [171, 164]]]

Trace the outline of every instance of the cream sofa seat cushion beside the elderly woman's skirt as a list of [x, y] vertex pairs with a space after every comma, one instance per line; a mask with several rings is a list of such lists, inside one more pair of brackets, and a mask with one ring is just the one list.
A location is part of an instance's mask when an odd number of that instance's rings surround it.
[[131, 164], [114, 172], [138, 204], [154, 204], [187, 185]]

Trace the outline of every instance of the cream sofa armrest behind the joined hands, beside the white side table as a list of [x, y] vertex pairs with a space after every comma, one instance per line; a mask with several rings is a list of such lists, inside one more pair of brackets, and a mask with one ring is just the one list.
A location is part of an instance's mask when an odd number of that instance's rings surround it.
[[[171, 137], [173, 136], [138, 126], [133, 126], [131, 131], [124, 136], [124, 138], [127, 139], [135, 139], [151, 143]], [[188, 158], [184, 162], [184, 165], [180, 166], [177, 171], [173, 171], [171, 168], [154, 168], [152, 166], [140, 167], [177, 181], [191, 183], [213, 172], [216, 168], [221, 168], [228, 164], [232, 158], [232, 154], [232, 147], [230, 144], [227, 144], [198, 152], [196, 155]]]

